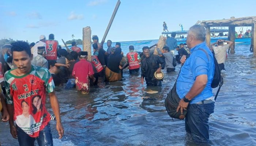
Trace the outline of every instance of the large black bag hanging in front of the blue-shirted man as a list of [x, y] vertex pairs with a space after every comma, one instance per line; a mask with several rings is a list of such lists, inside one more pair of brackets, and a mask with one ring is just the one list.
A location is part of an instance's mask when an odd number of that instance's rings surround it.
[[178, 112], [176, 112], [177, 107], [181, 100], [176, 92], [176, 83], [177, 83], [177, 81], [175, 82], [172, 90], [168, 93], [168, 95], [165, 99], [165, 108], [166, 108], [168, 115], [171, 118], [183, 120], [187, 114], [187, 110], [183, 110], [183, 114], [181, 114], [180, 110]]

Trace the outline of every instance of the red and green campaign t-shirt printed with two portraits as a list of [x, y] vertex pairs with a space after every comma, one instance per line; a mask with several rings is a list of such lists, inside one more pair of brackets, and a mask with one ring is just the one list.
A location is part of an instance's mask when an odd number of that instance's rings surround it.
[[11, 74], [12, 70], [4, 74], [7, 104], [14, 105], [16, 125], [30, 137], [38, 137], [50, 121], [45, 99], [46, 92], [51, 93], [55, 88], [52, 76], [46, 68], [34, 65], [23, 76]]

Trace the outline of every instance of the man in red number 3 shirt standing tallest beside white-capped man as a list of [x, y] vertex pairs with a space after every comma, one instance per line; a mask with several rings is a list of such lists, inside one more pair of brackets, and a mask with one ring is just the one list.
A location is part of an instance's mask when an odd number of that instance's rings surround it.
[[46, 43], [46, 59], [47, 60], [57, 60], [57, 48], [59, 42], [54, 40], [54, 34], [49, 34], [49, 40], [45, 41]]

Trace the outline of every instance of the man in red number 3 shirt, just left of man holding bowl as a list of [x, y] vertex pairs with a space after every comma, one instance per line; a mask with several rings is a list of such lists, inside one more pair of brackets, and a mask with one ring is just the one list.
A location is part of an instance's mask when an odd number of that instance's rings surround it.
[[129, 63], [129, 73], [138, 73], [140, 70], [140, 55], [139, 53], [134, 51], [134, 47], [129, 46], [129, 53], [127, 53], [126, 57]]

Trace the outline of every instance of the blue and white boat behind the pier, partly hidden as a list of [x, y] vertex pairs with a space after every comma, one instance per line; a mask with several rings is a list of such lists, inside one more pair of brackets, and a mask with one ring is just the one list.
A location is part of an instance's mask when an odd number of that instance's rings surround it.
[[[172, 34], [172, 32], [176, 32], [177, 34], [177, 42], [178, 42], [178, 45], [180, 43], [186, 43], [186, 40], [187, 38], [184, 37], [184, 38], [181, 38], [182, 35], [187, 35], [188, 34], [188, 30], [183, 30], [183, 26], [180, 24], [181, 26], [181, 30], [180, 31], [170, 31], [170, 32], [162, 32], [163, 35], [166, 35], [166, 34]], [[216, 28], [212, 28], [210, 29], [210, 32], [211, 34], [215, 34], [215, 33], [222, 33], [223, 32], [229, 32], [228, 29], [225, 29], [225, 27], [216, 27]], [[227, 36], [216, 36], [216, 37], [211, 37], [211, 43], [214, 43], [216, 41], [218, 41], [219, 39], [223, 39], [223, 40], [228, 40], [228, 37]], [[242, 44], [242, 45], [250, 45], [251, 44], [251, 38], [250, 37], [242, 37], [242, 38], [236, 38], [235, 39], [235, 44]]]

